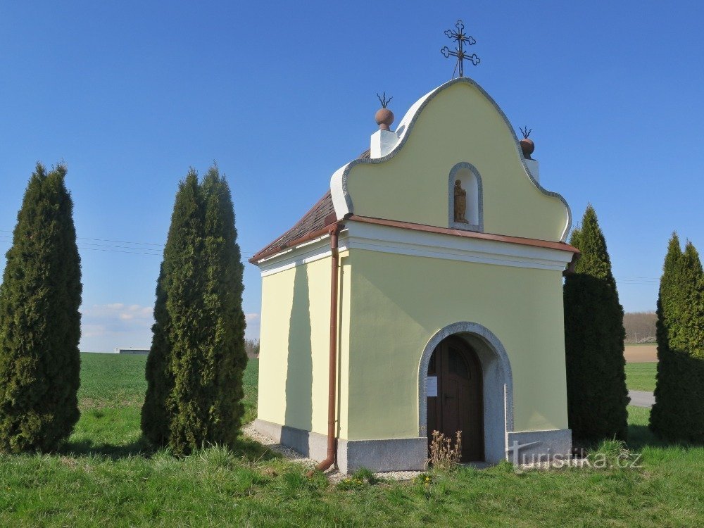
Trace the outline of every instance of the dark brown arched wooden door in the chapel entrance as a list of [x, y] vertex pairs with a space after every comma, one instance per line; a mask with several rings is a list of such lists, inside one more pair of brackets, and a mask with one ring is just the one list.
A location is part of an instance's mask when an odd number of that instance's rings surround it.
[[462, 431], [462, 461], [484, 460], [482, 365], [477, 353], [462, 339], [448, 337], [436, 346], [428, 377], [428, 441], [435, 430], [451, 439]]

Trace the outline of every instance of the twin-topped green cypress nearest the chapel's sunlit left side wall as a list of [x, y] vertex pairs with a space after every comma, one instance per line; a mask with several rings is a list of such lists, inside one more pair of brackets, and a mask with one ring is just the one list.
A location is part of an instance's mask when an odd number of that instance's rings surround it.
[[142, 430], [187, 454], [232, 445], [244, 413], [243, 267], [232, 199], [218, 169], [194, 170], [176, 197], [157, 286]]

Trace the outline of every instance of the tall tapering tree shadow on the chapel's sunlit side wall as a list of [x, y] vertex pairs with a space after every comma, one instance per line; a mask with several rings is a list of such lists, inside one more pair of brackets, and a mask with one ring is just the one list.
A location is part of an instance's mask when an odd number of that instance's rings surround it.
[[[313, 426], [313, 345], [310, 338], [310, 288], [304, 265], [296, 266], [293, 296], [289, 318], [284, 425], [310, 431]], [[282, 443], [286, 444], [284, 438]]]

